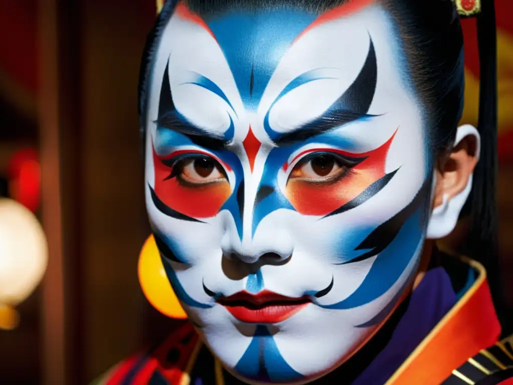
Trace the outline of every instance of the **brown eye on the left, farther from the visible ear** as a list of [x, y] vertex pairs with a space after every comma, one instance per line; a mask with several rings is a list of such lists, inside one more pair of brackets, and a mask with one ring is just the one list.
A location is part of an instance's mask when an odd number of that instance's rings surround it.
[[174, 168], [177, 168], [176, 174], [180, 179], [189, 183], [199, 184], [225, 179], [221, 165], [208, 157], [186, 159]]

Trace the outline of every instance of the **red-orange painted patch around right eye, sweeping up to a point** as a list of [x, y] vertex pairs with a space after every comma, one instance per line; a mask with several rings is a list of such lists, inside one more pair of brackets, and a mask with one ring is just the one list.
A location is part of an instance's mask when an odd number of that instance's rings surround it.
[[395, 133], [381, 147], [365, 153], [333, 151], [351, 158], [367, 157], [367, 159], [334, 182], [315, 183], [301, 178], [289, 179], [288, 200], [299, 213], [304, 215], [324, 216], [343, 206], [385, 176], [385, 160], [394, 136]]

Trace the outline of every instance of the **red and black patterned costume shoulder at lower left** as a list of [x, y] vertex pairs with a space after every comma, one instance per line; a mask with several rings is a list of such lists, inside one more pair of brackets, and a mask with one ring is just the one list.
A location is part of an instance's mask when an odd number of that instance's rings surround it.
[[91, 385], [189, 383], [201, 345], [190, 322], [184, 322], [164, 342], [120, 362]]

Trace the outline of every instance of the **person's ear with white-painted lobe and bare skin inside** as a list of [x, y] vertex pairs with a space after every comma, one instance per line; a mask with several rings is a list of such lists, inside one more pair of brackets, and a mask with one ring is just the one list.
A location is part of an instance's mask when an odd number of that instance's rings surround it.
[[479, 161], [481, 139], [476, 127], [458, 127], [450, 155], [433, 172], [433, 210], [426, 238], [448, 235], [456, 227], [460, 211], [472, 189], [472, 173]]

